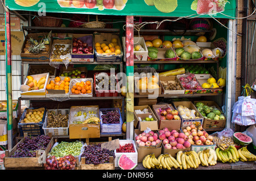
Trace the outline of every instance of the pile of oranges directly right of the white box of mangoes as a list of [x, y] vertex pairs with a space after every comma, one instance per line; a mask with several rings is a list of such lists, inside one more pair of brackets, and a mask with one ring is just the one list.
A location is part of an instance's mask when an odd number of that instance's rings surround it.
[[67, 94], [69, 92], [69, 82], [69, 77], [65, 77], [64, 80], [61, 80], [60, 77], [55, 77], [54, 81], [49, 82], [46, 89], [65, 90], [65, 93]]

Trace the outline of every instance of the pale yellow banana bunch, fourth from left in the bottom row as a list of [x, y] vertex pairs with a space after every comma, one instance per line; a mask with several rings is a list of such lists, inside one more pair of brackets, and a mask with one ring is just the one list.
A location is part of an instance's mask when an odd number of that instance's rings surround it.
[[202, 166], [213, 166], [217, 164], [217, 153], [212, 148], [203, 151], [198, 151], [197, 155], [200, 158]]

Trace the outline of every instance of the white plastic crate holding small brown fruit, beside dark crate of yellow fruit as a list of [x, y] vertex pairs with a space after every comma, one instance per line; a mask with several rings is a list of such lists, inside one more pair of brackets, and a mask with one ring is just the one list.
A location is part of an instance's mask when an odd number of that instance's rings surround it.
[[[66, 115], [68, 114], [68, 127], [65, 128], [47, 128], [47, 123], [48, 123], [48, 111], [55, 111], [56, 114], [61, 114], [61, 115]], [[46, 113], [46, 120], [44, 121], [43, 124], [43, 130], [44, 134], [48, 135], [48, 133], [52, 133], [52, 136], [67, 136], [68, 135], [68, 128], [69, 128], [69, 109], [60, 109], [60, 110], [47, 110]]]

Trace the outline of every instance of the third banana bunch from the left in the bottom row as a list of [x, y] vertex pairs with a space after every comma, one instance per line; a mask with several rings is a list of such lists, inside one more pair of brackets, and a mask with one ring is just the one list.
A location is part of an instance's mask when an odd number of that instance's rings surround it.
[[180, 164], [180, 169], [198, 168], [201, 161], [196, 151], [179, 151], [176, 155], [176, 160]]

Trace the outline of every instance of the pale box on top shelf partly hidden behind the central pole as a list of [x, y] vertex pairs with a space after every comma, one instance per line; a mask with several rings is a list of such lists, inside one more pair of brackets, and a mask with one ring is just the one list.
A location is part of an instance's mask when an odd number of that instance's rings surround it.
[[[123, 36], [122, 37], [122, 43], [123, 43], [123, 54], [126, 54], [126, 37]], [[144, 49], [144, 51], [133, 51], [133, 59], [134, 61], [147, 61], [147, 54], [148, 54], [148, 50], [147, 50], [147, 46], [144, 40], [144, 37], [138, 37], [135, 36], [134, 37], [134, 47], [136, 47], [136, 45], [141, 45], [142, 48]], [[126, 57], [123, 56], [123, 61], [126, 62]]]

